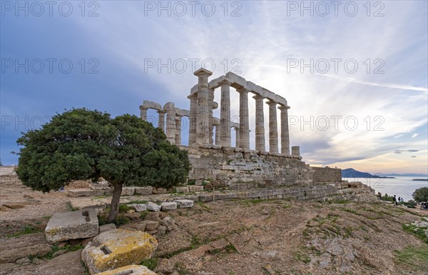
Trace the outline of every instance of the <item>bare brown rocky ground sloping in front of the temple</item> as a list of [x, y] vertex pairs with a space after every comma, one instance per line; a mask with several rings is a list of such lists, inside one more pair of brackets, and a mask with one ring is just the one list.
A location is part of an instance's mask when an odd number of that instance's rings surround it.
[[[44, 227], [51, 215], [68, 211], [66, 194], [31, 191], [3, 175], [0, 204], [0, 274], [85, 274], [78, 251], [44, 256], [52, 249]], [[426, 211], [350, 201], [233, 200], [168, 214], [176, 229], [158, 237], [152, 261], [158, 275], [428, 274], [428, 244], [402, 227]], [[11, 262], [14, 256], [24, 260]]]

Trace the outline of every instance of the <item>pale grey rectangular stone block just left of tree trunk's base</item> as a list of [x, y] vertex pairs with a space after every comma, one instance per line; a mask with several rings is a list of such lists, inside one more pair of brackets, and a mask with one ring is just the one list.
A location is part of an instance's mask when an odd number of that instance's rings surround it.
[[85, 239], [98, 234], [98, 217], [95, 209], [54, 214], [45, 229], [51, 243], [70, 239]]

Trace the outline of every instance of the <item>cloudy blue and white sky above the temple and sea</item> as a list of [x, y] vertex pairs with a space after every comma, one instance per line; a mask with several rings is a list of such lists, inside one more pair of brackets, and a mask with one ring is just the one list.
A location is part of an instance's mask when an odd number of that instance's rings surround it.
[[[204, 66], [285, 97], [308, 164], [427, 174], [427, 3], [1, 1], [1, 162], [17, 163], [21, 131], [71, 107], [188, 109]], [[187, 144], [186, 121], [182, 133]]]

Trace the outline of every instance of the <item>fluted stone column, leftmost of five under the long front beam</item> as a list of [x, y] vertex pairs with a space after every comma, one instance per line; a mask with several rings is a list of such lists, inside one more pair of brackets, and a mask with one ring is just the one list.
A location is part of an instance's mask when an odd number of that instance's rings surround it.
[[230, 147], [230, 81], [223, 80], [220, 101], [220, 145]]

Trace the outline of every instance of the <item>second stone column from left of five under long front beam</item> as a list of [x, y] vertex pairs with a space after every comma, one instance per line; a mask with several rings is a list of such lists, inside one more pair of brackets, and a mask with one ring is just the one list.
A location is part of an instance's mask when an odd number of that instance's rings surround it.
[[248, 121], [248, 90], [238, 89], [239, 92], [239, 147], [250, 149], [250, 125]]

